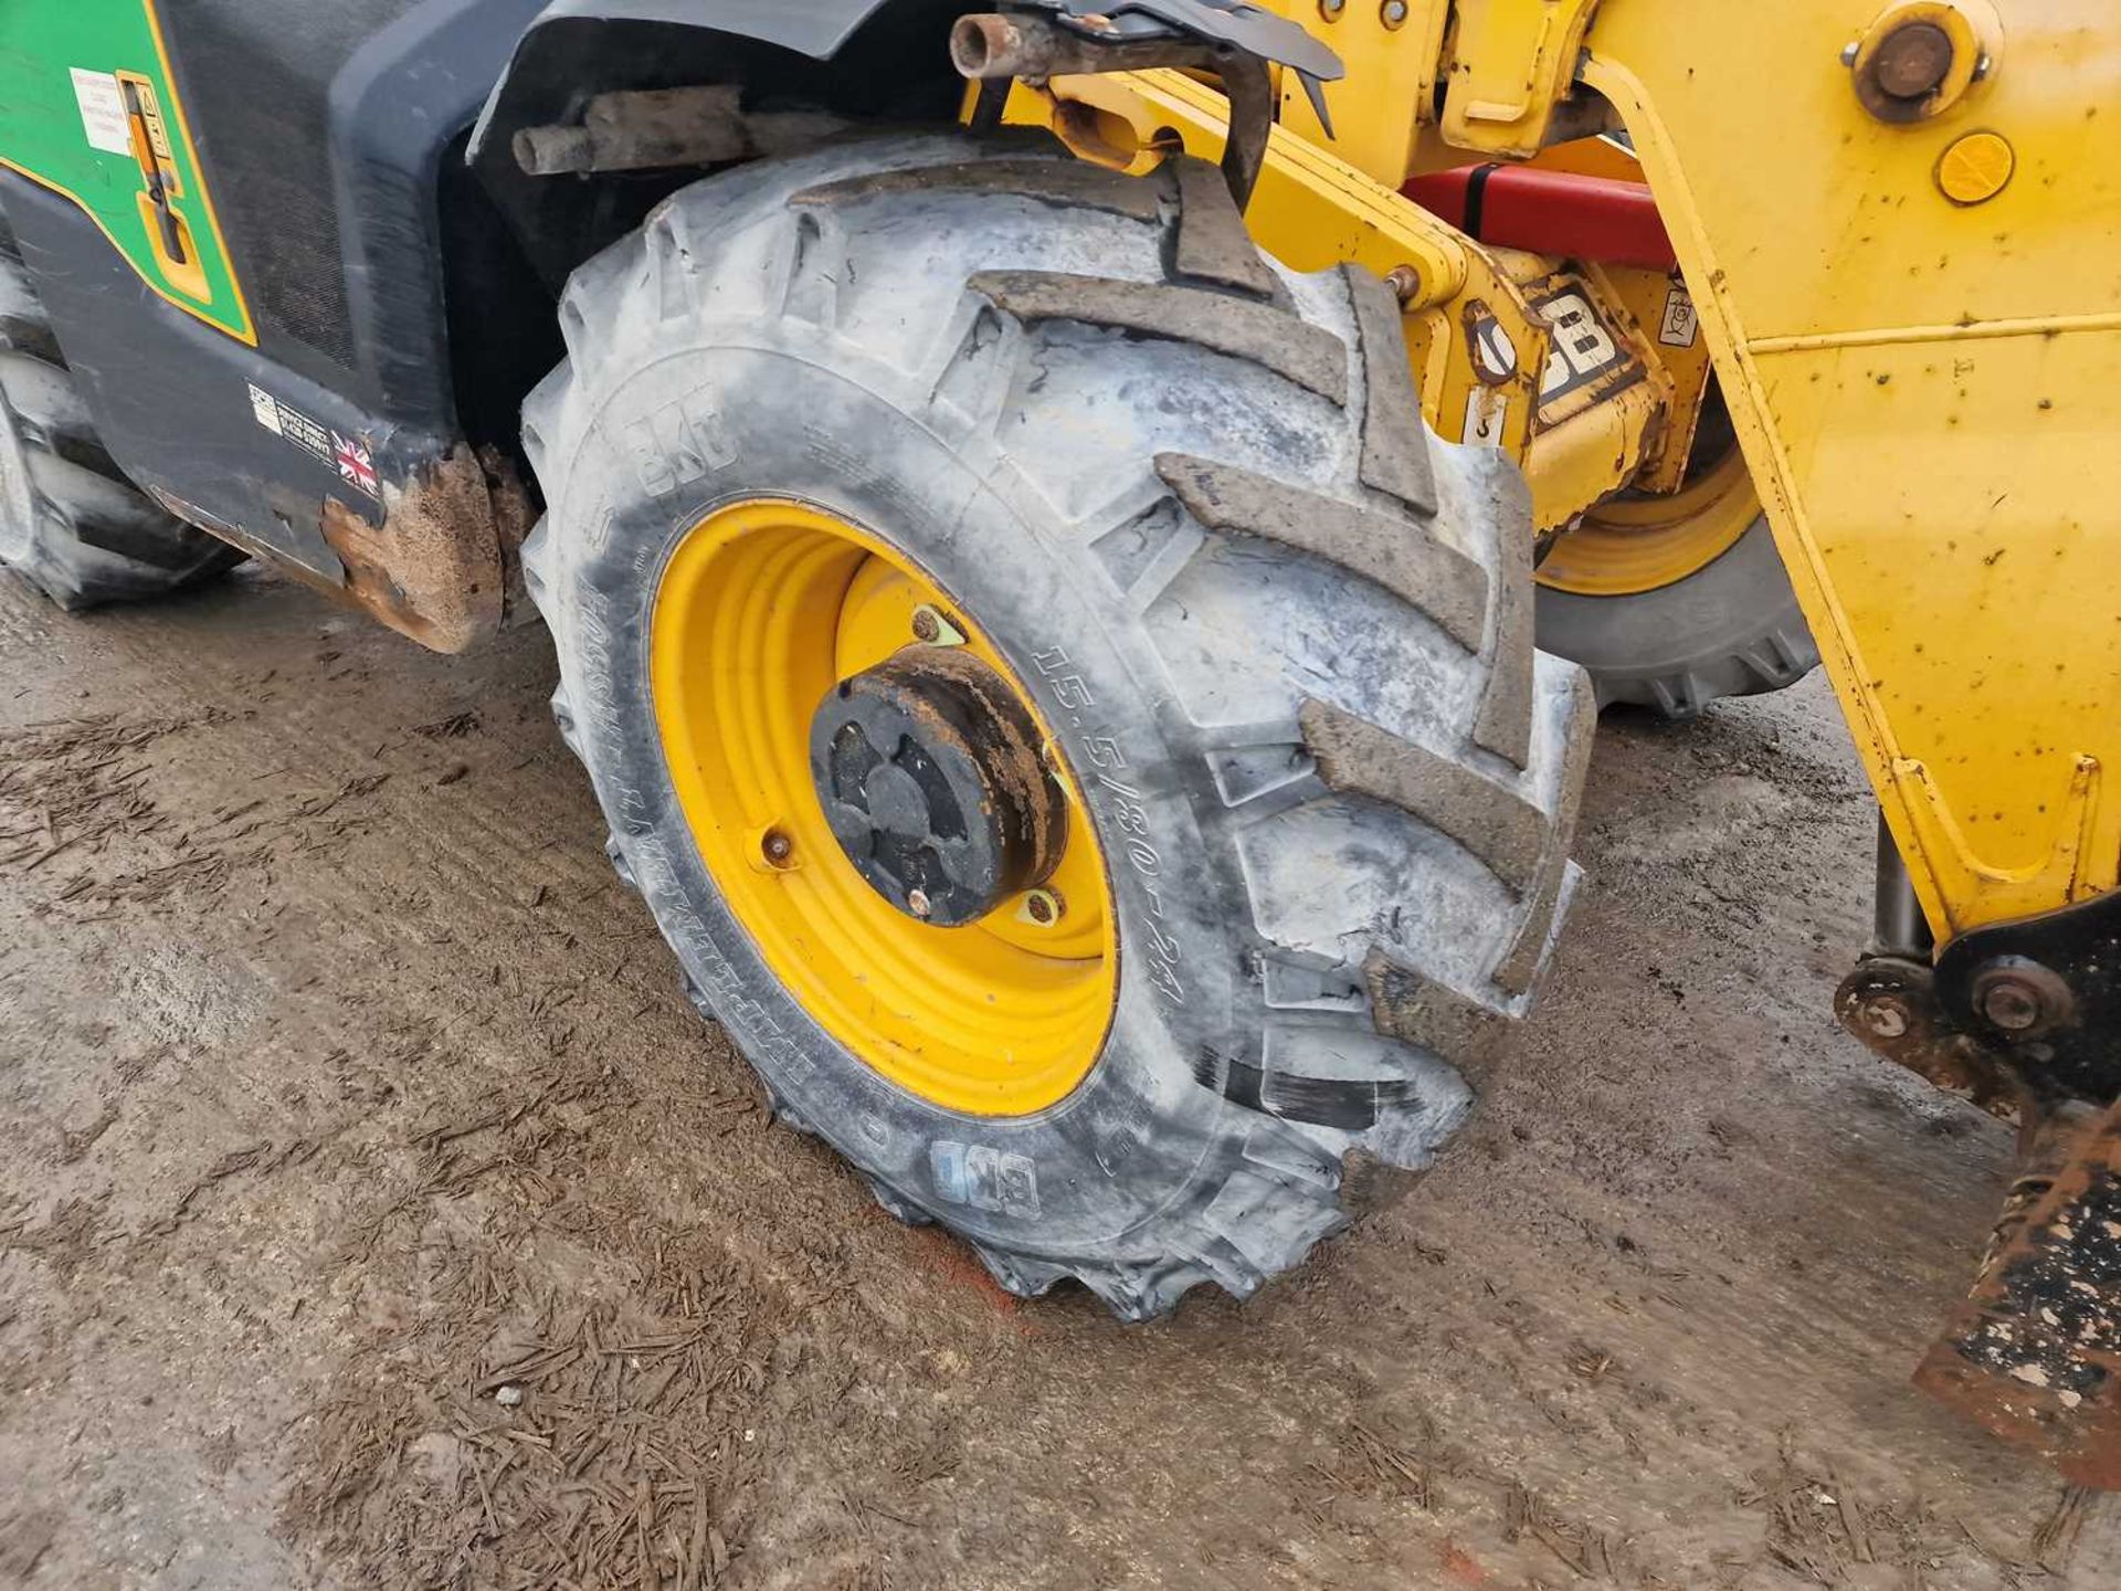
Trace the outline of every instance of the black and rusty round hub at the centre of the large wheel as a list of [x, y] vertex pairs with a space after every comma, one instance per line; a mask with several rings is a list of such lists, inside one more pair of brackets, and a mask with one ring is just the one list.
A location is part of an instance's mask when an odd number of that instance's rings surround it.
[[906, 647], [834, 685], [810, 719], [810, 779], [855, 872], [935, 927], [1046, 882], [1067, 846], [1031, 713], [961, 647]]

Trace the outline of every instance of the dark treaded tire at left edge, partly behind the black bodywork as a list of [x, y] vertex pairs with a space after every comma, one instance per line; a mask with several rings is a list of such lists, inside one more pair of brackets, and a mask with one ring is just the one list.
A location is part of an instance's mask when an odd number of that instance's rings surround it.
[[163, 596], [242, 558], [163, 513], [104, 452], [0, 223], [0, 564], [85, 609]]

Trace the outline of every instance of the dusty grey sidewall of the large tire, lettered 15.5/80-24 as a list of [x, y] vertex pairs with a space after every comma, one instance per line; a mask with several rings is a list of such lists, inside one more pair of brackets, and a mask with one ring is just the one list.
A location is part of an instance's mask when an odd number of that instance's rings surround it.
[[[821, 352], [694, 333], [683, 348], [609, 356], [611, 380], [575, 395], [585, 420], [551, 507], [562, 562], [543, 605], [562, 619], [583, 759], [679, 961], [797, 1124], [974, 1237], [1124, 1258], [1126, 1235], [1203, 1184], [1228, 1143], [1228, 1103], [1203, 1073], [1232, 1059], [1213, 1048], [1226, 1035], [1258, 1029], [1234, 1012], [1247, 978], [1232, 849], [1203, 832], [1198, 755], [1173, 745], [1154, 662], [1114, 622], [1122, 598], [1084, 590], [1094, 577], [1069, 566], [1050, 505], [991, 439], [944, 435], [893, 371], [859, 369], [844, 344], [829, 367]], [[706, 416], [713, 435], [696, 429], [698, 445], [674, 458], [645, 441], [670, 414]], [[812, 503], [904, 549], [993, 641], [1067, 751], [1105, 855], [1120, 978], [1092, 1073], [1035, 1116], [948, 1112], [861, 1063], [789, 997], [700, 861], [655, 725], [653, 598], [691, 526], [757, 496]]]

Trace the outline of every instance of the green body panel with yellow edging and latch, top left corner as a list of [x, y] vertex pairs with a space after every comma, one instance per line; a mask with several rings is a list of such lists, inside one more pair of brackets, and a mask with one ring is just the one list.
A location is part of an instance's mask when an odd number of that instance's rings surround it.
[[[66, 193], [148, 286], [250, 342], [250, 312], [214, 225], [153, 13], [153, 0], [0, 0], [0, 165]], [[170, 204], [189, 227], [197, 274], [170, 269], [157, 250], [138, 159], [91, 142], [76, 70], [104, 78], [136, 72], [153, 85], [178, 178]], [[89, 85], [98, 106], [110, 91], [115, 83]], [[100, 125], [108, 142], [108, 119]]]

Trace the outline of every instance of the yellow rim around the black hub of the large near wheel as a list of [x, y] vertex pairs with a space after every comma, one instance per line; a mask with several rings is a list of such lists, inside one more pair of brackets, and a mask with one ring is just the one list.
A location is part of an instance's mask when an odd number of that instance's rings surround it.
[[[995, 647], [906, 554], [804, 503], [751, 499], [696, 524], [664, 566], [649, 639], [679, 804], [730, 912], [795, 1001], [865, 1065], [948, 1109], [1022, 1116], [1065, 1099], [1105, 1044], [1118, 942], [1073, 779], [1058, 921], [1005, 899], [965, 927], [906, 916], [840, 851], [810, 779], [825, 694], [946, 613], [1052, 745]], [[1058, 759], [1052, 759], [1058, 766]]]

